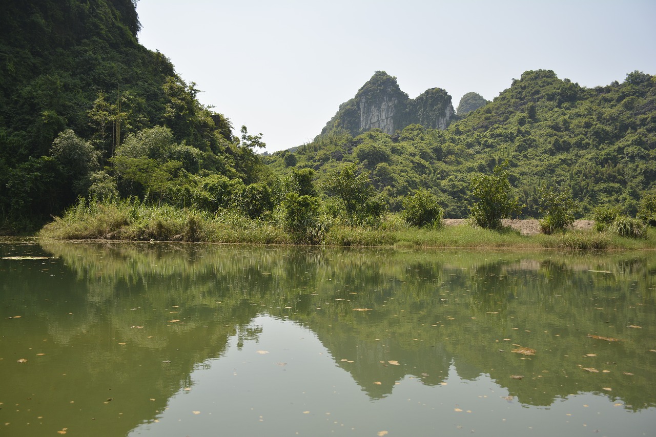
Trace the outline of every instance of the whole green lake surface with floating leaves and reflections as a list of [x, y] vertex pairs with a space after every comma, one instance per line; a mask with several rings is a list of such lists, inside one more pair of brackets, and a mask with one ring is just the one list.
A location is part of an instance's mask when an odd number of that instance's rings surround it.
[[653, 252], [0, 258], [1, 436], [656, 435]]

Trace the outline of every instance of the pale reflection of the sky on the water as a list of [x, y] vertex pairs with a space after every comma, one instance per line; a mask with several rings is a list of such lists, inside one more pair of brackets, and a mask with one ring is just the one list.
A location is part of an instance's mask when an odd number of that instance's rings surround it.
[[[191, 390], [173, 396], [157, 423], [131, 435], [650, 436], [656, 427], [655, 409], [632, 413], [589, 393], [549, 407], [522, 405], [488, 375], [461, 379], [455, 365], [444, 385], [405, 377], [391, 395], [373, 399], [344, 371], [358, 357], [331, 357], [293, 322], [259, 316], [249, 327], [262, 332], [241, 348], [232, 337], [221, 358], [197, 366]], [[335, 364], [345, 358], [353, 363]]]

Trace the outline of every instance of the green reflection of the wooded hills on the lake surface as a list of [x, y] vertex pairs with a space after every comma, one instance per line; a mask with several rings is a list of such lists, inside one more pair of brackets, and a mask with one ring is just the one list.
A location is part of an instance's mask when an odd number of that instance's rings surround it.
[[[255, 338], [247, 326], [262, 313], [312, 329], [372, 399], [406, 376], [440, 385], [453, 364], [464, 379], [489, 375], [524, 404], [603, 387], [634, 409], [656, 404], [653, 255], [43, 245], [58, 257], [48, 273], [18, 264], [2, 293], [26, 308], [23, 322], [37, 321], [20, 341], [49, 337], [53, 364], [78, 370], [62, 370], [61, 381], [17, 375], [9, 389], [52, 385], [65, 404], [84, 387], [90, 416], [113, 398], [117, 413], [155, 419], [231, 336]], [[3, 334], [15, 326], [3, 321]], [[522, 356], [514, 345], [537, 352]]]

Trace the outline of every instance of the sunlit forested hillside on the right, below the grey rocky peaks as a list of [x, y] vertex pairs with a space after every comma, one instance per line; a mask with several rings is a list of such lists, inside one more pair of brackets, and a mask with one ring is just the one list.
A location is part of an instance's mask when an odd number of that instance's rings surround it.
[[588, 89], [549, 70], [529, 71], [444, 131], [333, 129], [266, 159], [276, 171], [312, 168], [319, 182], [356, 163], [392, 211], [424, 188], [452, 218], [468, 216], [472, 177], [508, 161], [520, 218], [541, 217], [541, 188], [571, 190], [577, 217], [598, 206], [634, 216], [640, 200], [656, 194], [656, 77], [632, 72], [623, 83]]

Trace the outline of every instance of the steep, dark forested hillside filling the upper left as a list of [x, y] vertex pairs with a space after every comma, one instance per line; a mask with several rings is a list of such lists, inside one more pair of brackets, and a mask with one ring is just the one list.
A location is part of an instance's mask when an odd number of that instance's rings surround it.
[[184, 203], [209, 175], [258, 180], [261, 136], [234, 137], [194, 83], [138, 43], [135, 5], [3, 2], [0, 232], [41, 226], [78, 196]]

